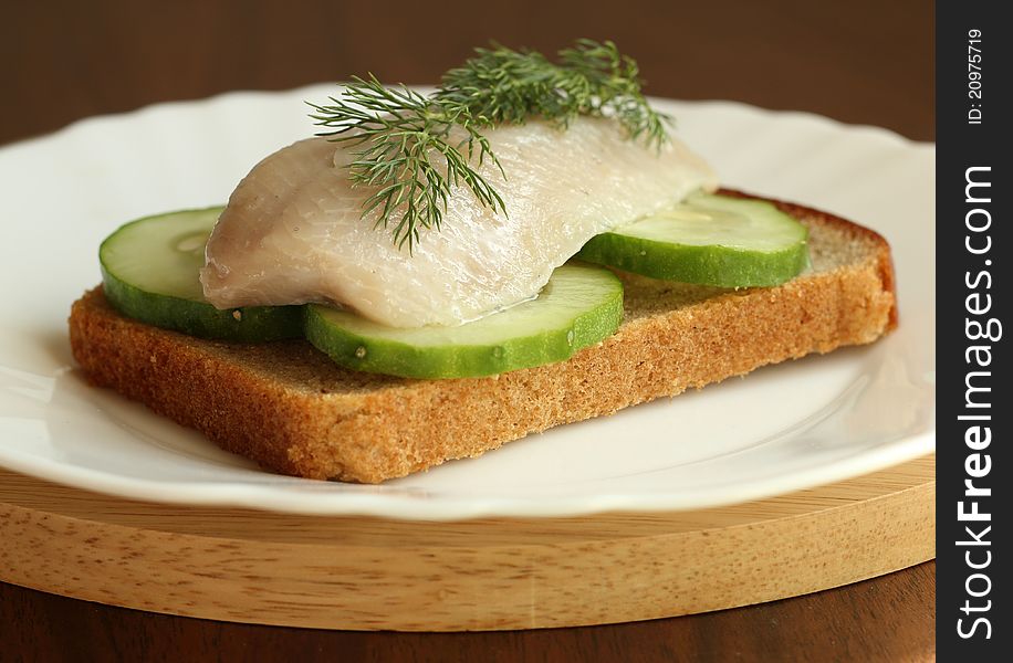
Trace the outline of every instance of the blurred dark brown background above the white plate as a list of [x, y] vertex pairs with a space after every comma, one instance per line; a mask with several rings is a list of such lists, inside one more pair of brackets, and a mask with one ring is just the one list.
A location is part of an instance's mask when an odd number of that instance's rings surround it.
[[226, 90], [372, 71], [432, 83], [497, 39], [612, 39], [648, 92], [811, 110], [934, 139], [933, 4], [918, 0], [9, 2], [0, 143]]

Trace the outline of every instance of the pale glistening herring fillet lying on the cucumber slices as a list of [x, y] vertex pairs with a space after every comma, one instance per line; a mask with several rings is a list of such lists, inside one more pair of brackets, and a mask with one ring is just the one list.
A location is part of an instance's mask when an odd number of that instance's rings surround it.
[[592, 236], [717, 187], [675, 138], [658, 151], [608, 119], [487, 137], [506, 179], [489, 162], [480, 171], [506, 214], [458, 189], [441, 229], [420, 229], [414, 253], [361, 218], [373, 189], [348, 180], [353, 148], [309, 138], [268, 156], [211, 233], [206, 298], [219, 308], [327, 302], [395, 327], [457, 325], [536, 295]]

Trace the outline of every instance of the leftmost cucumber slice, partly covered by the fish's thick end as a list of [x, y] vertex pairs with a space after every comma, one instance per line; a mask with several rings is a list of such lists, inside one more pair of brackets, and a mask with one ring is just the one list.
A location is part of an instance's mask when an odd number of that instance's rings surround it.
[[119, 313], [149, 325], [244, 343], [302, 336], [302, 306], [220, 311], [203, 298], [198, 273], [222, 208], [132, 221], [98, 249], [105, 296]]

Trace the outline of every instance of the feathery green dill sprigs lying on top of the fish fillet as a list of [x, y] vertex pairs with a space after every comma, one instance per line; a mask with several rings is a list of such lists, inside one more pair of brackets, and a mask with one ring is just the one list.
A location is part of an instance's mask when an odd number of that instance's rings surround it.
[[506, 177], [483, 129], [529, 118], [565, 129], [578, 115], [606, 116], [630, 139], [660, 148], [670, 118], [650, 107], [641, 86], [637, 63], [613, 42], [582, 39], [560, 51], [557, 63], [499, 44], [476, 49], [428, 96], [405, 85], [387, 87], [370, 74], [354, 77], [331, 104], [310, 105], [311, 117], [330, 129], [317, 135], [352, 145], [353, 185], [375, 189], [363, 218], [372, 217], [376, 228], [393, 223], [395, 243], [412, 251], [420, 229], [439, 230], [458, 187], [494, 213], [506, 213], [478, 171], [488, 160]]

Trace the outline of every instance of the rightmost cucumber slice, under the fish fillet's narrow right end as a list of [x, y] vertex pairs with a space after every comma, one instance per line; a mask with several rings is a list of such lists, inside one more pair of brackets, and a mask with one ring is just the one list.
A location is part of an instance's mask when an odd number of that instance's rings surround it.
[[668, 281], [777, 285], [808, 264], [807, 234], [802, 223], [770, 202], [697, 194], [592, 238], [577, 257]]

